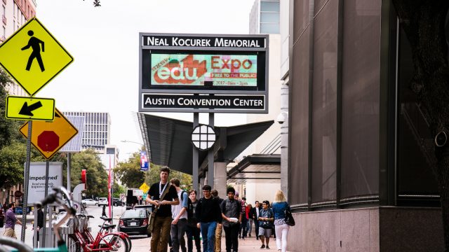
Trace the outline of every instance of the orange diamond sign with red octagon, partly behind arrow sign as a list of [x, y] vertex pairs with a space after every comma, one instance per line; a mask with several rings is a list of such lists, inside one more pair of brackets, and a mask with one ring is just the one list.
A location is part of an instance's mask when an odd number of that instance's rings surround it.
[[[22, 125], [19, 131], [28, 138], [28, 123]], [[58, 109], [55, 109], [53, 122], [32, 123], [31, 143], [46, 159], [50, 159], [76, 134], [78, 130], [74, 125]]]

